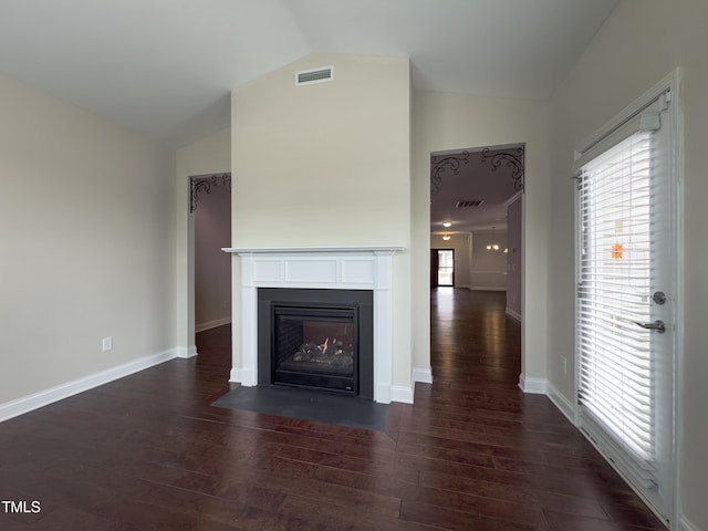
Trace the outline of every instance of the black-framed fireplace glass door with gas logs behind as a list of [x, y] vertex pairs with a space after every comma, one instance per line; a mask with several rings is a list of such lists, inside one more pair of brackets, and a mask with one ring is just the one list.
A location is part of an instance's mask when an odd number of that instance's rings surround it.
[[357, 394], [357, 309], [273, 306], [271, 379]]

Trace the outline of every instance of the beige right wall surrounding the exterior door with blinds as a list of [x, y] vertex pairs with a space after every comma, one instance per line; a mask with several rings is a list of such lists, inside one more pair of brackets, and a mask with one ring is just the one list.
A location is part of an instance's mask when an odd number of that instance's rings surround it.
[[[708, 138], [708, 2], [623, 0], [551, 101], [551, 238], [549, 291], [551, 384], [573, 402], [573, 148], [676, 67], [683, 69], [685, 115], [683, 382], [679, 399], [680, 497], [685, 523], [708, 529], [708, 263], [706, 138]], [[680, 296], [680, 295], [679, 295]], [[678, 529], [678, 528], [677, 528]]]

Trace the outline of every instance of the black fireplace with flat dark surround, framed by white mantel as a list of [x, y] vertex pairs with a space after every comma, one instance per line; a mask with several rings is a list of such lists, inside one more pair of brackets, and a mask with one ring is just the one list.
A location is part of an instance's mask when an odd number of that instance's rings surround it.
[[258, 383], [373, 399], [373, 293], [258, 290]]

